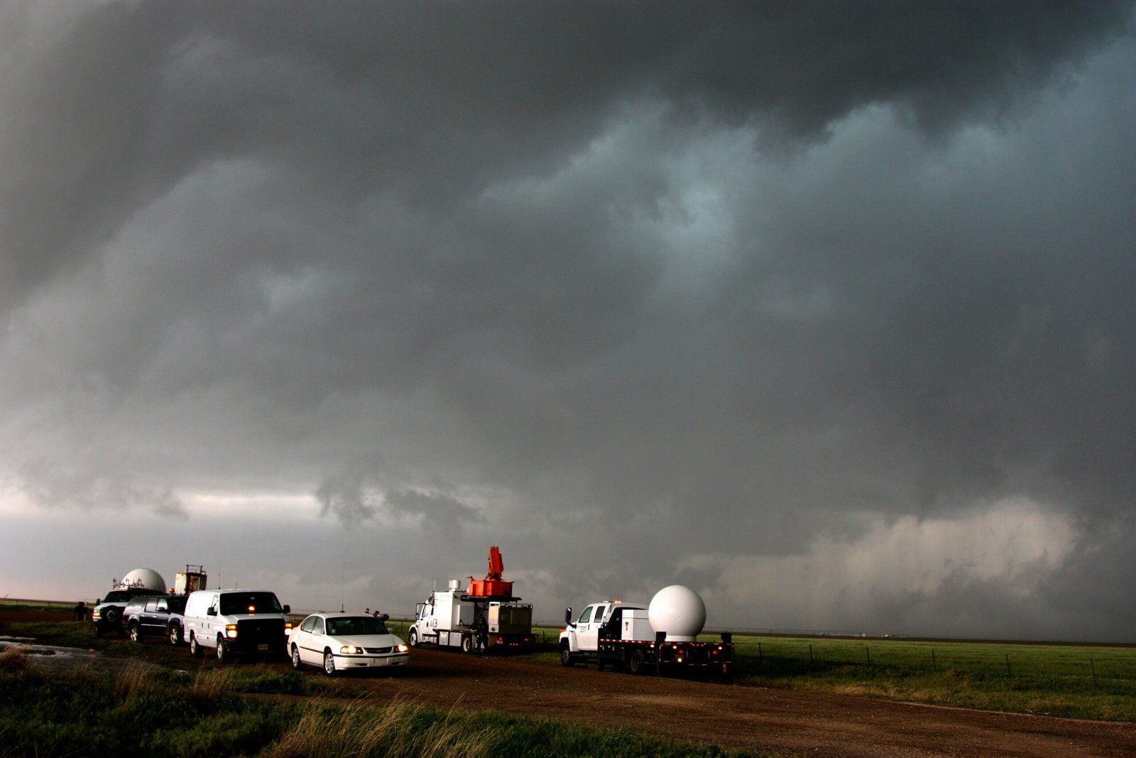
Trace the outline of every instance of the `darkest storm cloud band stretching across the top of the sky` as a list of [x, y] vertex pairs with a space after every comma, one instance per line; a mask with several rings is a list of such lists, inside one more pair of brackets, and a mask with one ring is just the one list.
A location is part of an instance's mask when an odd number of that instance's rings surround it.
[[939, 132], [1028, 99], [1122, 31], [1128, 8], [12, 3], [5, 300], [209, 161], [286, 163], [282, 178], [345, 205], [431, 205], [546, 170], [640, 98], [786, 136], [894, 102]]

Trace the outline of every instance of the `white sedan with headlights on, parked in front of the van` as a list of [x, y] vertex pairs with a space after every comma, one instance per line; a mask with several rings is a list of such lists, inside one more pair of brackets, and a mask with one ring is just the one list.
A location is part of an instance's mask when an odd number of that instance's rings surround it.
[[353, 668], [406, 666], [406, 643], [386, 630], [381, 618], [361, 614], [312, 614], [287, 636], [292, 667], [320, 666], [328, 676]]

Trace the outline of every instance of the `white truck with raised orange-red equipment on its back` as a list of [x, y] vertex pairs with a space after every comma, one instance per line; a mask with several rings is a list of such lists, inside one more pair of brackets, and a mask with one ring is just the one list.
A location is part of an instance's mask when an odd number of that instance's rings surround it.
[[486, 650], [527, 651], [533, 647], [533, 606], [512, 594], [512, 582], [501, 578], [501, 551], [490, 548], [490, 569], [484, 580], [469, 577], [465, 590], [460, 580], [448, 589], [434, 590], [426, 602], [415, 607], [415, 620], [407, 631], [411, 648], [436, 644], [477, 652], [478, 632]]

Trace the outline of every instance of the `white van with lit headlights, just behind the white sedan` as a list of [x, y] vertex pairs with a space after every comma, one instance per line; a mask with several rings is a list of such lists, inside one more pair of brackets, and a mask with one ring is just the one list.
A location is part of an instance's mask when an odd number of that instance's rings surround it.
[[216, 649], [220, 661], [279, 656], [292, 627], [290, 611], [268, 590], [198, 590], [185, 603], [182, 638], [194, 658], [202, 648]]

